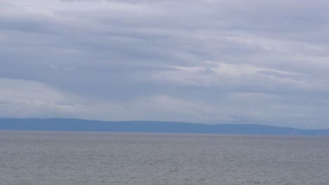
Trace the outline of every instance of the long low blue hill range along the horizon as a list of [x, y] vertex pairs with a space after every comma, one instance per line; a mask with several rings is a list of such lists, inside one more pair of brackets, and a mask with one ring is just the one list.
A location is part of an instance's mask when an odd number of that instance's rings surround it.
[[329, 129], [307, 130], [269, 125], [181, 123], [164, 121], [91, 121], [70, 118], [0, 118], [0, 130], [91, 132], [174, 132], [236, 135], [326, 135]]

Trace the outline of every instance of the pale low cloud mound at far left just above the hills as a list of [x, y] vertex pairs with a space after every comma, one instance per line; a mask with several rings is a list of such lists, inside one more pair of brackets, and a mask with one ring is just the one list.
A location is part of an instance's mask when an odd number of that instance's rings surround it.
[[0, 78], [1, 117], [67, 116], [77, 111], [69, 97], [36, 81]]

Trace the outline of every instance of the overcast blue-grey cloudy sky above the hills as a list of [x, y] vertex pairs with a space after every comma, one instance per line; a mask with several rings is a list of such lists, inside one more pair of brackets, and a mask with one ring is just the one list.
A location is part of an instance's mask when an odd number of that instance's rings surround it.
[[327, 0], [0, 0], [0, 117], [329, 128]]

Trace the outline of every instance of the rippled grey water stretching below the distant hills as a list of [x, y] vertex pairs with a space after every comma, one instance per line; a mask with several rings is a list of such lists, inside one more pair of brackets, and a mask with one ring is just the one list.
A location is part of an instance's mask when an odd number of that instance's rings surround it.
[[0, 131], [0, 184], [329, 184], [329, 137]]

